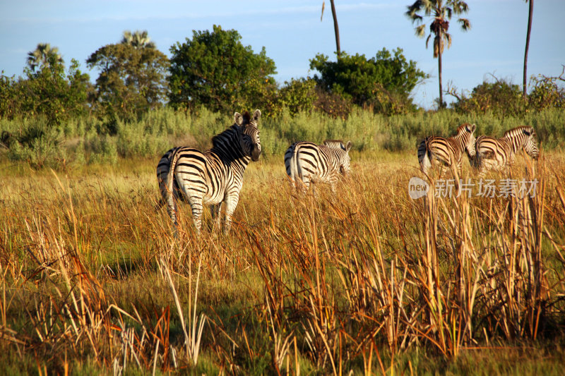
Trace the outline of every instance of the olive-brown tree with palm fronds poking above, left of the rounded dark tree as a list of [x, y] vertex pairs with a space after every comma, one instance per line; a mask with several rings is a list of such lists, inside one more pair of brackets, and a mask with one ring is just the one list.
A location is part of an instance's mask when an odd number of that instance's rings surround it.
[[89, 68], [100, 69], [96, 104], [105, 114], [130, 119], [162, 106], [169, 60], [153, 44], [138, 42], [107, 44], [86, 61]]

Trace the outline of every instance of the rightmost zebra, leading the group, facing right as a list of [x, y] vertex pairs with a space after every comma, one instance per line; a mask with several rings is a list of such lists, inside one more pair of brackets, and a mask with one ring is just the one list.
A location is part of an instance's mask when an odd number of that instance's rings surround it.
[[477, 138], [475, 150], [475, 166], [480, 175], [490, 169], [502, 169], [511, 166], [516, 153], [524, 150], [530, 157], [537, 159], [540, 150], [535, 140], [535, 130], [532, 127], [521, 126], [506, 131], [501, 138], [485, 135]]

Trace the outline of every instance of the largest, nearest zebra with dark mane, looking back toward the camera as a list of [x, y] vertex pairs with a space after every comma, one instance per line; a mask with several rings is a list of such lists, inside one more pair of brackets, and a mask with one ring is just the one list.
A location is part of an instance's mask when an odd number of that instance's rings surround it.
[[230, 231], [232, 214], [239, 200], [243, 174], [250, 160], [261, 155], [257, 122], [248, 112], [234, 114], [234, 125], [212, 138], [213, 147], [201, 152], [191, 147], [174, 147], [157, 164], [157, 181], [167, 212], [177, 224], [175, 198], [188, 200], [196, 230], [202, 226], [203, 204], [212, 204], [215, 226], [220, 226], [220, 210], [225, 202], [224, 234]]

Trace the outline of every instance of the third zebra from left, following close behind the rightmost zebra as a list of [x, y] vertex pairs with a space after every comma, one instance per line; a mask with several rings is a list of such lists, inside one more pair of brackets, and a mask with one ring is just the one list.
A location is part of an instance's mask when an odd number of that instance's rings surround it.
[[441, 164], [441, 172], [456, 166], [461, 172], [461, 157], [466, 150], [468, 157], [475, 156], [475, 124], [464, 123], [457, 134], [449, 138], [429, 136], [418, 145], [420, 169], [427, 174], [432, 164]]

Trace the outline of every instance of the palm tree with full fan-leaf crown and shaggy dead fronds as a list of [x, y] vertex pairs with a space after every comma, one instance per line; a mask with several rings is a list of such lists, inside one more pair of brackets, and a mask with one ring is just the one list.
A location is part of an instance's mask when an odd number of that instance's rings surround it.
[[[439, 107], [444, 107], [443, 89], [441, 86], [441, 54], [444, 53], [444, 47], [451, 47], [451, 35], [447, 32], [449, 29], [449, 20], [453, 14], [467, 13], [469, 6], [465, 1], [460, 0], [417, 0], [414, 4], [407, 7], [405, 13], [412, 23], [420, 24], [416, 30], [418, 37], [424, 37], [426, 33], [426, 25], [422, 23], [423, 16], [433, 17], [432, 23], [429, 25], [429, 35], [426, 40], [426, 48], [429, 39], [434, 35], [434, 58], [437, 58], [437, 67], [439, 73]], [[418, 13], [423, 13], [420, 16]], [[467, 18], [459, 18], [461, 30], [467, 31], [471, 28], [471, 23]]]

